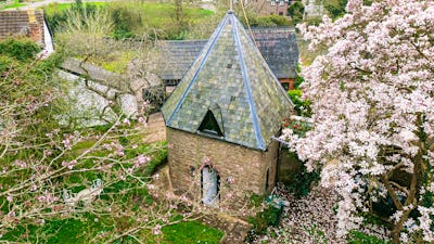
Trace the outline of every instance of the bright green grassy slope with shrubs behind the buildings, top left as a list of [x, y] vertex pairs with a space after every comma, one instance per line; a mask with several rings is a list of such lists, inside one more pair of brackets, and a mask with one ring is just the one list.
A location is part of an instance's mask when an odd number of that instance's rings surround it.
[[[184, 39], [190, 31], [195, 30], [197, 23], [213, 15], [212, 11], [204, 9], [183, 5], [176, 8], [173, 3], [143, 1], [113, 1], [106, 4], [80, 1], [73, 4], [53, 3], [44, 8], [44, 11], [50, 30], [56, 34], [62, 31], [62, 26], [68, 22], [67, 12], [74, 12], [80, 20], [86, 20], [87, 15], [101, 8], [107, 11], [110, 20], [113, 21], [113, 31], [110, 36], [117, 40], [140, 39], [143, 35], [158, 39]], [[207, 28], [214, 29], [214, 26], [207, 25]]]

